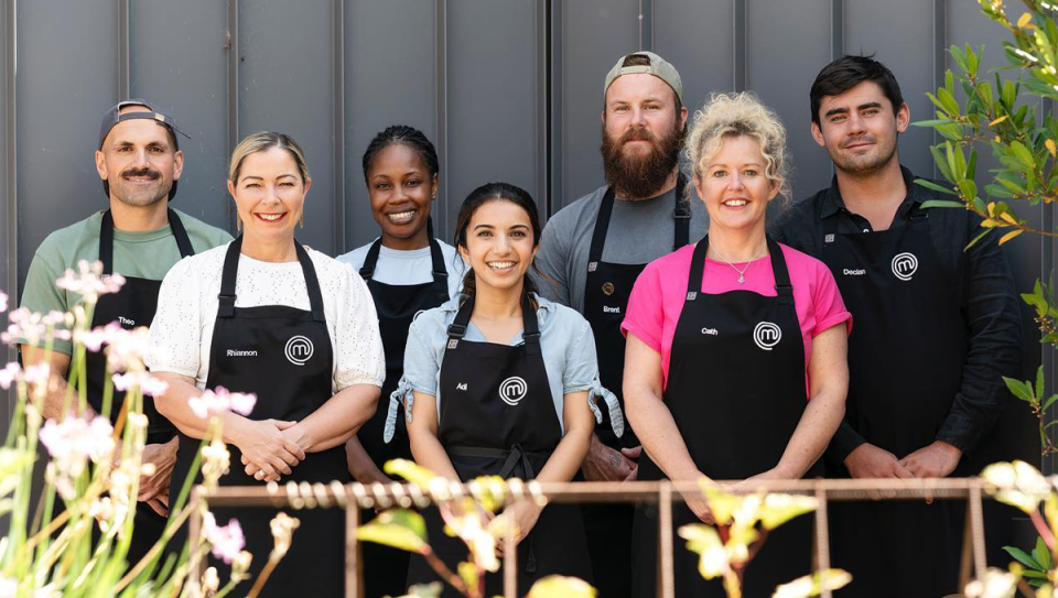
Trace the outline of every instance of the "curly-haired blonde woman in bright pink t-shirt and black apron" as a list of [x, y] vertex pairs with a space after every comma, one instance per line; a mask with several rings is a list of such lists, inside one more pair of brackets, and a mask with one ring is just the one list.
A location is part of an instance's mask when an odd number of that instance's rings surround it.
[[[687, 141], [709, 235], [650, 263], [636, 281], [622, 329], [625, 405], [643, 442], [641, 480], [797, 479], [818, 475], [844, 414], [851, 315], [830, 270], [771, 241], [768, 203], [789, 196], [786, 131], [748, 94], [715, 96]], [[674, 524], [710, 521], [684, 496]], [[746, 596], [811, 570], [811, 520], [768, 535], [745, 572]], [[636, 596], [656, 587], [655, 511], [636, 513]], [[677, 596], [723, 596], [697, 555], [678, 551]]]

